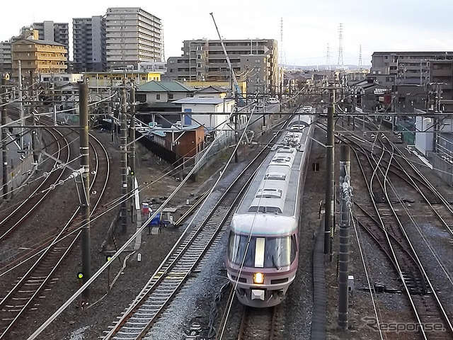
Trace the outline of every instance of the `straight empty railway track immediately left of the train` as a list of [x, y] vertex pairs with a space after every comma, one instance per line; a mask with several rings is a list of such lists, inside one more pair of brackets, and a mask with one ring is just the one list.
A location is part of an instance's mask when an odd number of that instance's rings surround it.
[[[276, 138], [277, 136], [274, 136]], [[109, 331], [107, 339], [144, 339], [156, 325], [159, 317], [194, 275], [203, 256], [212, 244], [219, 242], [236, 211], [241, 195], [253, 178], [258, 167], [268, 155], [263, 148], [257, 157], [237, 177], [222, 198], [207, 213], [202, 222], [193, 227], [188, 235], [178, 240], [164, 262], [159, 266], [147, 285], [131, 305], [122, 313]]]

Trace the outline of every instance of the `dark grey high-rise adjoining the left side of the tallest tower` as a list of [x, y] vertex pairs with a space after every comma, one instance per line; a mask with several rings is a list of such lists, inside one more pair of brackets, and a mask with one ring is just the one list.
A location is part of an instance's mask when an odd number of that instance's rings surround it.
[[74, 72], [104, 72], [105, 17], [72, 19]]

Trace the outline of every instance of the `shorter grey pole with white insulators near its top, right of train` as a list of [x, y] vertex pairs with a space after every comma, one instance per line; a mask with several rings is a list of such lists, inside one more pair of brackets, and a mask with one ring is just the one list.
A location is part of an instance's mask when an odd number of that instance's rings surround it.
[[350, 149], [349, 145], [340, 147], [340, 194], [341, 220], [338, 251], [338, 327], [348, 329], [349, 305], [349, 227], [352, 187], [350, 186]]

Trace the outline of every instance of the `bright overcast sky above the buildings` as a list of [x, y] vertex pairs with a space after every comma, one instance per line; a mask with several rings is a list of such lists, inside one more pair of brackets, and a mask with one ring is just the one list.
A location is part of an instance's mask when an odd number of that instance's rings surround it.
[[142, 7], [161, 18], [166, 59], [181, 55], [183, 40], [218, 39], [210, 12], [222, 38], [278, 40], [289, 65], [325, 64], [327, 45], [331, 64], [336, 64], [340, 23], [344, 64], [358, 64], [360, 45], [364, 65], [370, 64], [374, 51], [453, 50], [452, 0], [3, 0], [0, 40], [42, 21], [69, 23], [71, 35], [72, 18], [104, 15], [108, 7], [125, 6]]

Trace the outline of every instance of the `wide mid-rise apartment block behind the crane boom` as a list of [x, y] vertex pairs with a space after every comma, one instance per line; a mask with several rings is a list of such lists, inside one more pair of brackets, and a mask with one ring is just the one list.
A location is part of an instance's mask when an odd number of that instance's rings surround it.
[[[183, 55], [169, 57], [166, 79], [231, 81], [220, 40], [184, 40]], [[277, 40], [224, 40], [238, 81], [247, 81], [248, 93], [274, 93], [280, 86]]]

